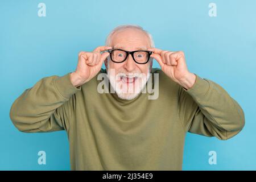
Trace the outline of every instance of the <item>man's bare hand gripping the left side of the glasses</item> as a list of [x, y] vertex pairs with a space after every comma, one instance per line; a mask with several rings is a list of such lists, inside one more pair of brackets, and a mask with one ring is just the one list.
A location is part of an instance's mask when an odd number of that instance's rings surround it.
[[102, 54], [100, 52], [111, 48], [100, 46], [92, 52], [80, 52], [76, 71], [71, 73], [72, 84], [77, 87], [96, 76], [101, 69], [102, 63], [109, 56], [109, 52]]

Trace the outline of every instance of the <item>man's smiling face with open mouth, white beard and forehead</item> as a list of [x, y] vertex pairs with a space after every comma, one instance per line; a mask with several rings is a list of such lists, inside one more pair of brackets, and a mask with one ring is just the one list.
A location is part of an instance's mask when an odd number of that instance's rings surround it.
[[[115, 32], [112, 36], [112, 48], [125, 51], [147, 50], [150, 48], [148, 36], [141, 30], [132, 28]], [[152, 61], [146, 64], [137, 64], [129, 55], [123, 63], [105, 61], [109, 81], [118, 97], [131, 100], [141, 93], [146, 85], [152, 67]]]

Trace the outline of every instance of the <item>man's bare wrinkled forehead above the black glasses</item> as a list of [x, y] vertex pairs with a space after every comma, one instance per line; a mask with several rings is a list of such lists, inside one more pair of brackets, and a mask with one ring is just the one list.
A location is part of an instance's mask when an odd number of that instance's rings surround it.
[[145, 32], [133, 28], [117, 31], [112, 35], [113, 48], [146, 49], [150, 47], [150, 39]]

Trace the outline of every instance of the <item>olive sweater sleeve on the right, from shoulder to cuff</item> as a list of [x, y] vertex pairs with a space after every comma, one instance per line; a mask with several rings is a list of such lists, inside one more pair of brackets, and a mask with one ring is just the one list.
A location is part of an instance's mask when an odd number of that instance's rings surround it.
[[192, 88], [179, 89], [179, 116], [185, 131], [221, 140], [245, 125], [240, 105], [220, 85], [198, 75]]

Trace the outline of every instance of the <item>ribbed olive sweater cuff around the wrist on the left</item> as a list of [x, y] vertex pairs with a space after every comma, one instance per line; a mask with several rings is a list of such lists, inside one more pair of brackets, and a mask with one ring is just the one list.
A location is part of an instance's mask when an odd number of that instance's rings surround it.
[[81, 90], [81, 86], [77, 88], [72, 84], [70, 74], [68, 73], [64, 76], [56, 76], [54, 78], [54, 85], [57, 92], [63, 97], [65, 100], [68, 100], [73, 94], [77, 91]]

